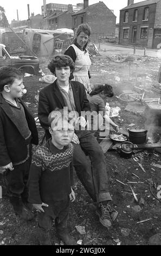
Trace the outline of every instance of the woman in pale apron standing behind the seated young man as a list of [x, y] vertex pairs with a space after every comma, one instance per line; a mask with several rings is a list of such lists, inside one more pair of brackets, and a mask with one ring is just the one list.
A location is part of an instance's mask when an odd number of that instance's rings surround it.
[[89, 74], [91, 59], [86, 49], [90, 35], [91, 27], [89, 27], [88, 24], [82, 23], [79, 25], [76, 29], [73, 44], [70, 45], [64, 53], [70, 56], [75, 63], [75, 70], [73, 76], [70, 76], [70, 79], [84, 84], [87, 94], [92, 91], [89, 82], [89, 78], [91, 77]]

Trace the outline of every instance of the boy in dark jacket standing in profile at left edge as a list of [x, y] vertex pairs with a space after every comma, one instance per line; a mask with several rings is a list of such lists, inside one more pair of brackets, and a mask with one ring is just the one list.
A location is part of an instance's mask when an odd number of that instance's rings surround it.
[[38, 133], [33, 115], [21, 100], [22, 77], [22, 72], [11, 66], [0, 68], [0, 167], [15, 213], [31, 220], [34, 214], [26, 207], [27, 181], [31, 144], [38, 144]]

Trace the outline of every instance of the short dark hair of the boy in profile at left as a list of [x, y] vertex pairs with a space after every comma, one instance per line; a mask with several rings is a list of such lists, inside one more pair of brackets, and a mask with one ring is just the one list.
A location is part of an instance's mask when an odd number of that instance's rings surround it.
[[15, 79], [21, 79], [23, 72], [20, 69], [13, 68], [12, 66], [2, 66], [0, 68], [0, 92], [3, 92], [4, 86], [10, 86], [15, 82]]

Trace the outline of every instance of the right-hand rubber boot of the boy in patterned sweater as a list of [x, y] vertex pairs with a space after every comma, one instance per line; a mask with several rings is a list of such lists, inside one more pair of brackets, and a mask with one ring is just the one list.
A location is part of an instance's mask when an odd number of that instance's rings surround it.
[[78, 245], [76, 241], [69, 235], [68, 229], [67, 229], [67, 221], [61, 221], [60, 223], [57, 223], [55, 220], [55, 228], [57, 236], [66, 244], [66, 245]]

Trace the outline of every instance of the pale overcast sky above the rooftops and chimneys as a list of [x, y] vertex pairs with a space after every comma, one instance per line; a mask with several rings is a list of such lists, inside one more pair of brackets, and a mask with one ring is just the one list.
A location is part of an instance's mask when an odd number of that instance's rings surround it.
[[[83, 0], [47, 0], [48, 3], [60, 3], [60, 4], [73, 4], [82, 3]], [[98, 0], [89, 0], [89, 5], [98, 3]], [[102, 1], [106, 6], [114, 10], [115, 16], [117, 16], [117, 23], [119, 22], [119, 10], [127, 6], [127, 0], [104, 0]], [[134, 3], [141, 2], [140, 0], [134, 0]], [[17, 9], [19, 20], [28, 19], [28, 8], [27, 4], [30, 5], [30, 15], [31, 13], [41, 14], [41, 5], [43, 5], [43, 0], [0, 0], [0, 5], [5, 10], [5, 15], [9, 23], [11, 20], [17, 20]]]

